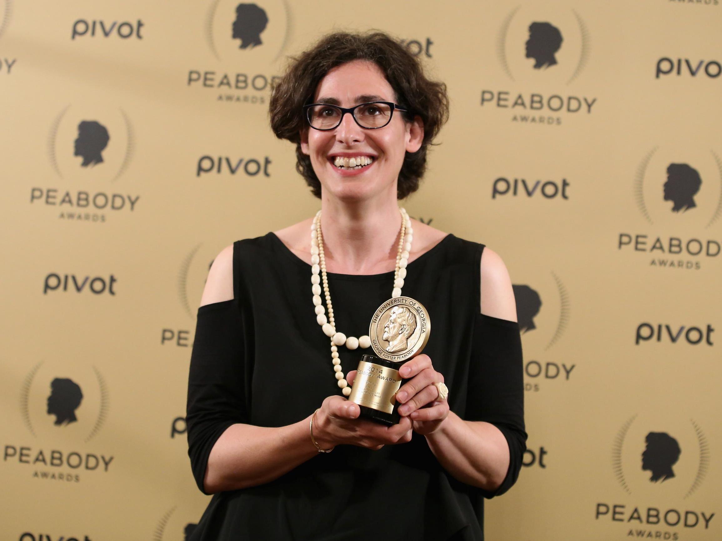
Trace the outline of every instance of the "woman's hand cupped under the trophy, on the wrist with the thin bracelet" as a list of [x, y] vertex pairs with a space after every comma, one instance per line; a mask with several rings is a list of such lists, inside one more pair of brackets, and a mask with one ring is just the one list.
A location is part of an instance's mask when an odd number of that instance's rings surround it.
[[[353, 382], [355, 375], [355, 370], [347, 374], [349, 384]], [[360, 414], [359, 406], [346, 397], [326, 397], [313, 421], [313, 437], [321, 449], [348, 444], [376, 451], [384, 445], [411, 441], [414, 430], [408, 417], [401, 417], [399, 424], [386, 426], [359, 418]]]

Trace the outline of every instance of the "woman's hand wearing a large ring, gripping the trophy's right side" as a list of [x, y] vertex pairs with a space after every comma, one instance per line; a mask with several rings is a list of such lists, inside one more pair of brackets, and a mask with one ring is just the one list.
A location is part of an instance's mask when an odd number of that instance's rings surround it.
[[[414, 432], [431, 434], [448, 417], [448, 400], [439, 400], [436, 382], [444, 382], [443, 374], [434, 370], [428, 355], [419, 355], [406, 361], [399, 374], [408, 382], [401, 385], [396, 401], [401, 403], [399, 414], [412, 420]], [[429, 405], [425, 408], [424, 406]]]

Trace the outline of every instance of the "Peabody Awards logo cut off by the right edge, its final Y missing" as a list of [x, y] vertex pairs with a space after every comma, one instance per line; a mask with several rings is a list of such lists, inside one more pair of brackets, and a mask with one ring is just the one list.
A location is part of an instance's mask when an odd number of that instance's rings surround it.
[[708, 231], [722, 216], [722, 159], [716, 151], [661, 149], [641, 160], [634, 182], [641, 218], [654, 233], [623, 232], [617, 250], [642, 252], [656, 268], [700, 269], [722, 243]]

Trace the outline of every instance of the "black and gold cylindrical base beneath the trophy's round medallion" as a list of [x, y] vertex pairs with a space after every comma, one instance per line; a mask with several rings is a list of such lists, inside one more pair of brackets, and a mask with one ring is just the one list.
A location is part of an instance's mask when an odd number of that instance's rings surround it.
[[361, 408], [361, 417], [385, 425], [401, 421], [396, 392], [406, 380], [400, 364], [373, 355], [363, 355], [351, 387], [349, 400]]

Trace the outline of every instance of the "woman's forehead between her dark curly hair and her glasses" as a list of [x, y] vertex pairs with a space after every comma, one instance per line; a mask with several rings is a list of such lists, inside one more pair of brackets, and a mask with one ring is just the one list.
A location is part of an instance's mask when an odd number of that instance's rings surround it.
[[[373, 97], [373, 100], [369, 100]], [[355, 105], [367, 101], [393, 101], [394, 92], [383, 71], [373, 62], [355, 60], [331, 69], [316, 87], [314, 102]]]

